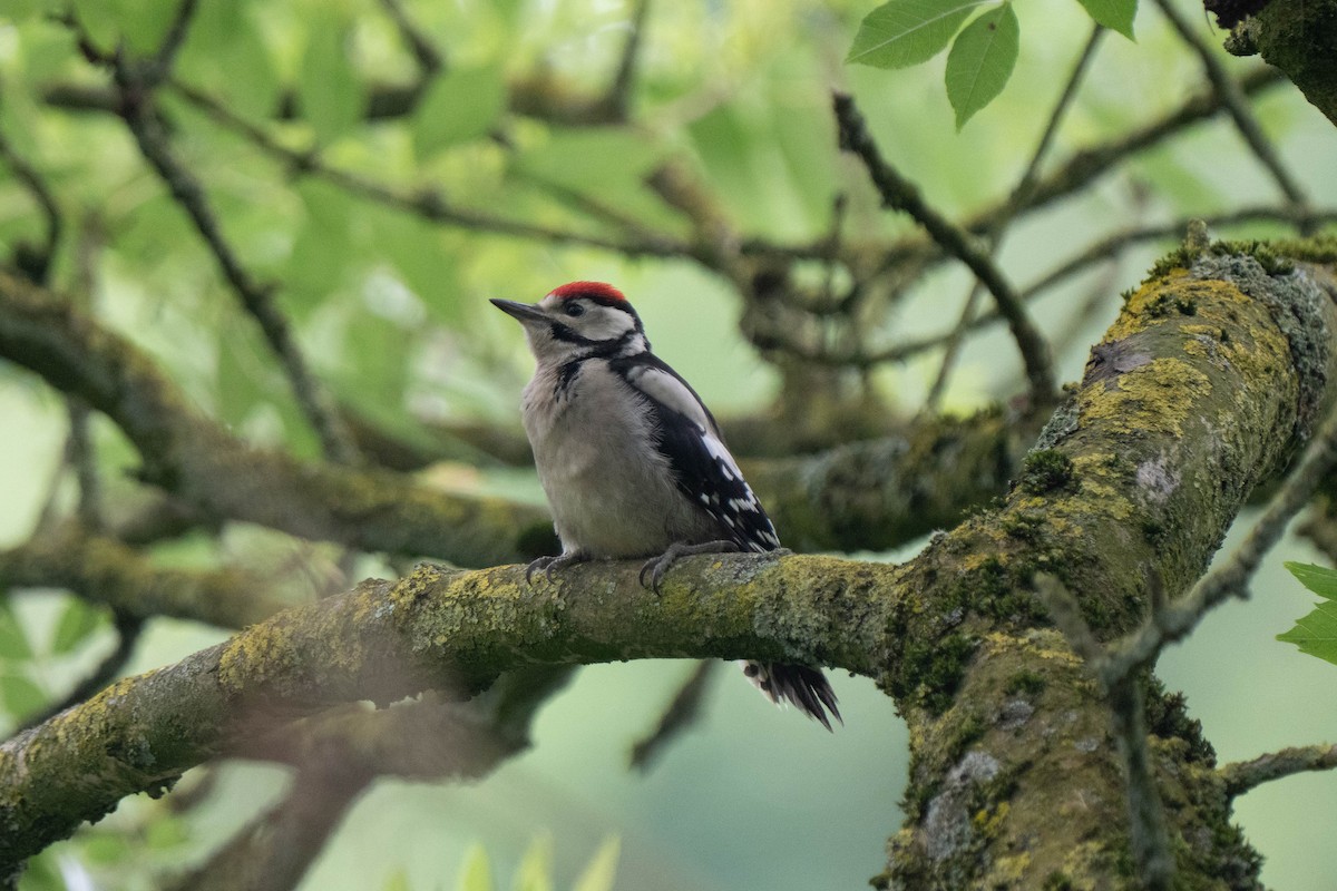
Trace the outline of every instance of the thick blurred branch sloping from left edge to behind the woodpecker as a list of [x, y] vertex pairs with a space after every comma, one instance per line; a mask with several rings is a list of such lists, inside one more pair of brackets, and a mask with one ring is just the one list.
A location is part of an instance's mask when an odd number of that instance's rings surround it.
[[253, 449], [198, 414], [127, 341], [3, 273], [0, 357], [107, 414], [139, 449], [150, 482], [214, 517], [460, 565], [523, 560], [552, 546], [545, 513], [536, 508]]

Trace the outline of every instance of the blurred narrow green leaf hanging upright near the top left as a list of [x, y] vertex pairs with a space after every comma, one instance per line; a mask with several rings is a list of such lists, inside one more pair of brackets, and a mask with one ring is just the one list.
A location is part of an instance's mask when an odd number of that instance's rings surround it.
[[297, 81], [302, 118], [328, 143], [352, 130], [362, 115], [362, 84], [349, 57], [352, 27], [332, 16], [314, 16]]

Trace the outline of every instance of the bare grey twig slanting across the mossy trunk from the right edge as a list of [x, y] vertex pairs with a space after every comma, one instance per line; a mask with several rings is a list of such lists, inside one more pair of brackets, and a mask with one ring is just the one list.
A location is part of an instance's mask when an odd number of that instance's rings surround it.
[[1179, 600], [1151, 616], [1139, 631], [1110, 648], [1102, 667], [1107, 679], [1126, 677], [1155, 661], [1166, 644], [1185, 637], [1213, 606], [1226, 597], [1246, 597], [1249, 580], [1263, 554], [1286, 530], [1333, 466], [1337, 465], [1337, 411], [1329, 411], [1322, 427], [1281, 489], [1267, 502], [1262, 517], [1222, 566], [1198, 580]]

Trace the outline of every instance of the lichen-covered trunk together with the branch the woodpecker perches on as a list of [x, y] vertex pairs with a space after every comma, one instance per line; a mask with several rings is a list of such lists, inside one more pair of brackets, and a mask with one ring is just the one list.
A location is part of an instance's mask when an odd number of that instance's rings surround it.
[[[896, 699], [913, 767], [888, 882], [1108, 883], [1127, 858], [1108, 704], [1047, 628], [1031, 580], [1056, 574], [1100, 639], [1134, 628], [1146, 573], [1182, 593], [1308, 435], [1328, 399], [1334, 311], [1318, 277], [1255, 255], [1197, 246], [1166, 263], [1092, 351], [1003, 506], [902, 566], [695, 558], [659, 597], [623, 564], [533, 586], [517, 568], [365, 582], [7, 743], [0, 866], [257, 721], [428, 688], [468, 696], [535, 663], [749, 656], [866, 675]], [[1154, 685], [1147, 696], [1179, 874], [1247, 884], [1257, 856], [1229, 826], [1210, 747]]]

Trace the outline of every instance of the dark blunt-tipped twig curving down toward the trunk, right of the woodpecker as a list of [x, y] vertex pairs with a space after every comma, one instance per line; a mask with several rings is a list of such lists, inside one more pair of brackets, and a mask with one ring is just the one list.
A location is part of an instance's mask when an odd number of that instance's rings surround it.
[[1038, 403], [1050, 401], [1054, 395], [1054, 367], [1050, 363], [1050, 347], [1031, 321], [1012, 285], [1003, 277], [1001, 270], [989, 255], [975, 244], [969, 232], [931, 207], [920, 195], [919, 187], [886, 163], [864, 124], [864, 116], [854, 107], [853, 96], [836, 94], [833, 99], [836, 120], [840, 126], [841, 148], [853, 152], [864, 162], [886, 207], [909, 214], [943, 250], [965, 263], [975, 273], [975, 277], [989, 289], [989, 294], [993, 295], [999, 313], [1007, 319], [1012, 338], [1021, 353], [1032, 398]]

